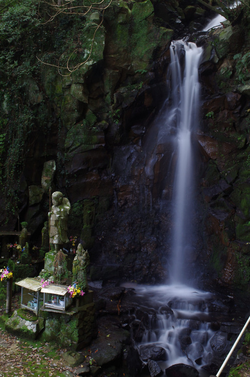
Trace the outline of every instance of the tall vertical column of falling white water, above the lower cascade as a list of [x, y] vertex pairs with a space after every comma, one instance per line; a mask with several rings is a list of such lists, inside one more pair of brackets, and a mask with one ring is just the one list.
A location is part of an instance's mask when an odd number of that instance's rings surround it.
[[[182, 75], [181, 60], [185, 51], [185, 70]], [[186, 282], [185, 265], [193, 247], [192, 210], [194, 206], [194, 158], [192, 134], [196, 132], [200, 108], [200, 83], [198, 68], [202, 47], [195, 43], [176, 41], [171, 45], [171, 72], [173, 106], [175, 114], [177, 163], [174, 183], [174, 230], [172, 243], [172, 282]], [[166, 114], [168, 116], [168, 113]]]

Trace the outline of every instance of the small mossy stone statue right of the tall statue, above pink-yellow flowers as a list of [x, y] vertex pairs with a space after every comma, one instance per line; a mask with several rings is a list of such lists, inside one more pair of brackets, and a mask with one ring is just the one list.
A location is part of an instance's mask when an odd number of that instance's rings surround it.
[[87, 280], [87, 268], [90, 264], [90, 255], [87, 250], [84, 250], [81, 243], [78, 244], [76, 255], [73, 260], [73, 281], [78, 282], [78, 286], [87, 293], [89, 285]]

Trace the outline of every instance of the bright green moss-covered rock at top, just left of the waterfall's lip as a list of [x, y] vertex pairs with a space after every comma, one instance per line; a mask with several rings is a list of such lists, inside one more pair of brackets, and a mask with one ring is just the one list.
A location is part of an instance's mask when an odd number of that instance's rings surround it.
[[152, 66], [153, 53], [169, 46], [173, 30], [153, 25], [150, 0], [130, 5], [132, 10], [125, 2], [115, 1], [107, 11], [112, 38], [107, 36], [104, 58], [112, 69], [132, 68], [135, 72]]

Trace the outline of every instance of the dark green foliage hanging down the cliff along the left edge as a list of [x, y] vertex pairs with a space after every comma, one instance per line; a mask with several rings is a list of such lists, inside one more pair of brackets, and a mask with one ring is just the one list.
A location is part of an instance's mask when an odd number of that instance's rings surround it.
[[30, 137], [44, 121], [29, 99], [30, 80], [38, 73], [36, 49], [41, 48], [43, 32], [38, 5], [32, 0], [6, 5], [2, 12], [0, 8], [0, 195], [7, 222], [8, 213], [15, 214], [19, 206], [19, 181]]

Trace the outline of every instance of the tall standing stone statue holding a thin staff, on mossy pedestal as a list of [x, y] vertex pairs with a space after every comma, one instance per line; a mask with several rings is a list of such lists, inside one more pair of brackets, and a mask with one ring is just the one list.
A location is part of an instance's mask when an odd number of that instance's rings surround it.
[[69, 242], [67, 238], [67, 220], [70, 211], [69, 200], [63, 198], [62, 193], [56, 191], [52, 194], [52, 208], [50, 217], [50, 239], [55, 251], [59, 251], [61, 245]]

